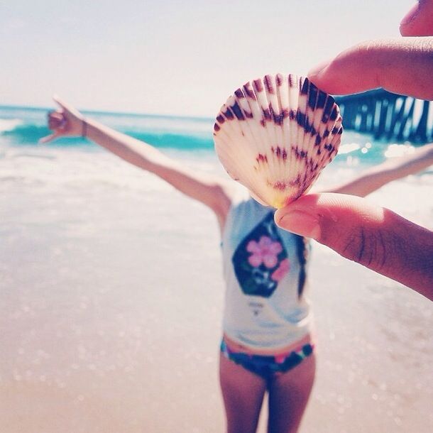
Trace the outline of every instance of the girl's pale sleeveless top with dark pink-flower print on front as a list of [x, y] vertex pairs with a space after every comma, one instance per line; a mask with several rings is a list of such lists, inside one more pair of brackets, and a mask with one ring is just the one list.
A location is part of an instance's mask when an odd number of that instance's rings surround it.
[[304, 287], [309, 245], [279, 229], [274, 212], [238, 197], [224, 227], [224, 334], [250, 349], [289, 346], [312, 324]]

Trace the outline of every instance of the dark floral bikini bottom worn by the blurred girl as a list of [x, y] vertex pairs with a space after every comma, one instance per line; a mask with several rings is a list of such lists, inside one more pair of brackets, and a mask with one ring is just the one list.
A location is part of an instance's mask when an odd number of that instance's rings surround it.
[[250, 353], [231, 351], [226, 341], [224, 339], [221, 341], [221, 353], [227, 359], [243, 366], [246, 370], [255, 373], [266, 381], [278, 373], [286, 373], [295, 368], [313, 353], [313, 349], [312, 344], [305, 344], [300, 349], [280, 356], [251, 355]]

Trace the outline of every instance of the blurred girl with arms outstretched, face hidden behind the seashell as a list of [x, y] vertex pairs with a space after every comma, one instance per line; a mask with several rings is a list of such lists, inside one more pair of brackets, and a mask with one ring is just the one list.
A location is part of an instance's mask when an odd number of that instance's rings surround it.
[[[226, 301], [219, 377], [229, 433], [256, 432], [268, 392], [268, 432], [296, 432], [312, 390], [316, 358], [307, 297], [306, 239], [278, 229], [274, 209], [231, 180], [192, 172], [147, 143], [87, 119], [55, 99], [52, 135], [85, 136], [206, 204], [221, 229]], [[433, 163], [433, 144], [369, 170], [332, 192], [370, 194]]]

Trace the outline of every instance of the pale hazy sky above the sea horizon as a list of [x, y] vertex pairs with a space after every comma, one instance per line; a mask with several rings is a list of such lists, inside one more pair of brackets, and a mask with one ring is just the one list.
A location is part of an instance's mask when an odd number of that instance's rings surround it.
[[1, 0], [0, 105], [214, 116], [244, 82], [396, 38], [413, 0]]

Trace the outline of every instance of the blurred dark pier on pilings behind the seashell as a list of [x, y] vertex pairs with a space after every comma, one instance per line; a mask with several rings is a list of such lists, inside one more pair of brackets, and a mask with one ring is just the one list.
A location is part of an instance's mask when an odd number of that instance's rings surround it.
[[433, 141], [433, 102], [371, 90], [335, 97], [347, 130], [371, 133], [376, 140]]

